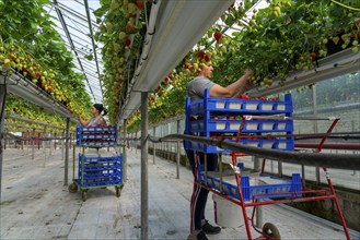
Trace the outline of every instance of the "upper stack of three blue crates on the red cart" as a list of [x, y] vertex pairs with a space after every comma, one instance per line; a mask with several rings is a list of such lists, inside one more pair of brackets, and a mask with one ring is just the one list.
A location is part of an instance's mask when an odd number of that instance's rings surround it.
[[[243, 116], [253, 118], [243, 122]], [[276, 137], [276, 135], [293, 133], [291, 119], [256, 119], [256, 116], [291, 118], [291, 95], [287, 94], [284, 100], [244, 100], [211, 98], [209, 91], [206, 89], [204, 100], [196, 103], [190, 103], [189, 98], [186, 100], [185, 132], [207, 137], [227, 136], [225, 141], [235, 142], [239, 129], [243, 125], [239, 143], [263, 148], [293, 151], [294, 139], [292, 136]], [[229, 149], [191, 142], [186, 142], [185, 147], [204, 153], [231, 153]]]

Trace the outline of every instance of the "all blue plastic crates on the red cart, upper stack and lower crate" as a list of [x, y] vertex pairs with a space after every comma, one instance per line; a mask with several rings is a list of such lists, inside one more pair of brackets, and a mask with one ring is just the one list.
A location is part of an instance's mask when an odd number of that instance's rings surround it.
[[[239, 137], [240, 144], [278, 151], [294, 149], [294, 139], [291, 136], [291, 94], [284, 95], [284, 100], [253, 100], [211, 98], [209, 91], [206, 89], [204, 96], [202, 100], [196, 103], [186, 99], [186, 134], [236, 142], [239, 130], [243, 127]], [[244, 116], [247, 118], [243, 121]], [[260, 118], [256, 118], [257, 116]], [[230, 149], [189, 141], [185, 142], [185, 148], [208, 154], [232, 153]], [[242, 163], [237, 163], [237, 166], [242, 166]], [[237, 185], [224, 181], [220, 183], [218, 178], [206, 176], [204, 166], [198, 168], [197, 181], [217, 190], [220, 190], [221, 184], [223, 194], [240, 199]], [[294, 196], [289, 192], [299, 192], [302, 189], [300, 173], [293, 173], [291, 180], [281, 179], [281, 183], [251, 185], [249, 182], [248, 176], [241, 176], [244, 201], [251, 201], [253, 195], [257, 195], [257, 199]]]

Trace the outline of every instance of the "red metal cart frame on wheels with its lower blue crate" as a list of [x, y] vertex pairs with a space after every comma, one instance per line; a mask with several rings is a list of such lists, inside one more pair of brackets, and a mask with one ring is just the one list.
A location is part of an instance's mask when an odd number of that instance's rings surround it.
[[[242, 124], [239, 128], [239, 132], [236, 135], [236, 143], [239, 143], [239, 141], [242, 137], [248, 137], [248, 135], [243, 135], [243, 128], [245, 125], [245, 122], [247, 119], [265, 119], [267, 117], [259, 117], [259, 116], [246, 116], [242, 118]], [[278, 118], [278, 117], [276, 117]], [[293, 120], [294, 118], [289, 118], [289, 117], [283, 117], [290, 120]], [[271, 118], [275, 119], [275, 118]], [[310, 119], [307, 119], [310, 120]], [[311, 119], [311, 120], [325, 120], [325, 119]], [[333, 120], [333, 123], [330, 124], [329, 129], [327, 130], [327, 132], [325, 134], [323, 134], [323, 136], [321, 137], [321, 142], [318, 144], [318, 147], [316, 151], [314, 151], [314, 153], [321, 153], [322, 152], [322, 147], [327, 139], [327, 136], [330, 134], [330, 132], [334, 130], [335, 125], [337, 124], [337, 122], [339, 121], [339, 118], [328, 118], [326, 120]], [[256, 136], [257, 139], [265, 139], [265, 137], [294, 137], [295, 135], [267, 135], [267, 136]], [[223, 136], [222, 136], [223, 139]], [[267, 223], [264, 225], [264, 227], [262, 229], [258, 229], [255, 227], [254, 225], [254, 216], [255, 216], [255, 211], [258, 206], [263, 206], [263, 205], [270, 205], [270, 204], [277, 204], [277, 203], [295, 203], [295, 202], [310, 202], [310, 201], [323, 201], [323, 200], [330, 200], [334, 201], [346, 238], [350, 239], [347, 226], [346, 226], [346, 221], [339, 205], [339, 201], [336, 196], [336, 192], [335, 189], [333, 187], [329, 173], [327, 171], [326, 168], [323, 168], [325, 176], [326, 176], [326, 180], [327, 180], [327, 184], [329, 187], [329, 192], [326, 190], [312, 190], [306, 188], [304, 184], [302, 184], [302, 188], [299, 188], [299, 184], [301, 184], [301, 179], [299, 177], [297, 177], [297, 179], [292, 179], [291, 184], [289, 187], [287, 187], [286, 184], [278, 184], [278, 185], [264, 185], [260, 188], [254, 188], [254, 189], [246, 189], [246, 187], [242, 183], [242, 180], [244, 180], [241, 177], [241, 169], [239, 167], [239, 163], [236, 157], [237, 156], [244, 156], [244, 154], [242, 153], [235, 153], [232, 152], [231, 153], [232, 156], [232, 166], [233, 166], [233, 172], [234, 172], [234, 177], [236, 180], [236, 185], [230, 185], [230, 184], [223, 184], [222, 182], [222, 177], [220, 177], [220, 179], [214, 179], [210, 176], [208, 176], [208, 172], [198, 170], [200, 168], [206, 168], [206, 166], [200, 166], [199, 165], [199, 157], [198, 154], [196, 155], [196, 159], [197, 159], [197, 165], [196, 165], [196, 176], [194, 179], [194, 188], [196, 187], [196, 184], [201, 185], [202, 188], [208, 189], [209, 191], [211, 191], [214, 194], [218, 194], [224, 199], [227, 199], [228, 201], [231, 201], [232, 203], [241, 206], [242, 208], [242, 214], [243, 214], [243, 218], [244, 218], [244, 224], [245, 224], [245, 228], [246, 228], [246, 233], [247, 233], [247, 239], [253, 239], [252, 232], [251, 232], [251, 228], [249, 228], [249, 223], [248, 223], [248, 216], [246, 213], [246, 208], [247, 207], [253, 207], [253, 214], [251, 216], [251, 223], [253, 228], [259, 232], [262, 235], [262, 237], [257, 238], [257, 239], [280, 239], [280, 233], [278, 231], [278, 229], [276, 228], [275, 225]], [[205, 158], [205, 165], [207, 165], [207, 160]], [[220, 167], [221, 167], [221, 163], [220, 163]], [[220, 172], [222, 172], [222, 170], [220, 169]], [[263, 165], [262, 165], [262, 170], [260, 173], [265, 172], [265, 159], [263, 159]], [[220, 173], [222, 175], [222, 173]], [[293, 176], [294, 178], [294, 176]], [[246, 179], [245, 179], [246, 180]], [[248, 185], [247, 185], [248, 187]], [[297, 188], [298, 187], [298, 188]], [[234, 192], [234, 190], [236, 192]], [[278, 199], [280, 197], [280, 199]], [[262, 200], [262, 201], [260, 201]], [[193, 219], [193, 217], [191, 217]], [[193, 226], [193, 225], [191, 225]], [[191, 229], [190, 229], [191, 230]]]

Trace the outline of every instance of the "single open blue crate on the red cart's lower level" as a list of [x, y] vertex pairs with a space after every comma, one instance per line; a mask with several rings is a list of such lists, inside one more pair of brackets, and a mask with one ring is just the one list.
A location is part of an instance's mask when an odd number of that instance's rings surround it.
[[[283, 180], [283, 179], [282, 179]], [[220, 191], [220, 180], [208, 176], [206, 183], [205, 172], [198, 173], [198, 182]], [[241, 191], [244, 201], [255, 199], [279, 199], [301, 196], [302, 184], [300, 173], [293, 173], [291, 180], [284, 183], [251, 185], [247, 176], [241, 177]], [[222, 181], [222, 193], [240, 200], [237, 185]]]

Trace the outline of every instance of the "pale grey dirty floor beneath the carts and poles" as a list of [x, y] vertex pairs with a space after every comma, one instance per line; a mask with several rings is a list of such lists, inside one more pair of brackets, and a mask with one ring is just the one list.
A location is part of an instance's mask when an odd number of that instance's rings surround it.
[[[140, 239], [140, 151], [128, 151], [127, 182], [121, 196], [115, 188], [94, 189], [83, 202], [63, 185], [60, 149], [4, 152], [1, 179], [0, 239]], [[149, 156], [149, 239], [186, 239], [193, 177], [174, 163]], [[72, 179], [72, 157], [69, 183]], [[341, 227], [283, 205], [263, 208], [264, 223], [275, 224], [282, 239], [345, 239]], [[213, 223], [209, 196], [206, 216]], [[252, 230], [254, 238], [259, 235]], [[360, 232], [350, 230], [351, 239]], [[223, 228], [209, 239], [246, 239], [245, 227]]]

